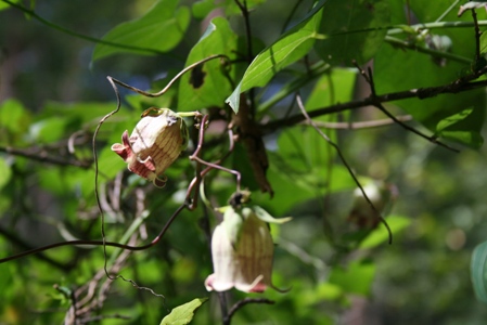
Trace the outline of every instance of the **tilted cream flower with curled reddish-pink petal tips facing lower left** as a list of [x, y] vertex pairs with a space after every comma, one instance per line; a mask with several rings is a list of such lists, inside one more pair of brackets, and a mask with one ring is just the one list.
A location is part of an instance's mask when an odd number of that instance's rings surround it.
[[178, 158], [188, 145], [188, 128], [184, 120], [169, 108], [149, 108], [128, 136], [121, 135], [121, 144], [112, 145], [130, 171], [163, 187], [167, 178], [164, 171]]

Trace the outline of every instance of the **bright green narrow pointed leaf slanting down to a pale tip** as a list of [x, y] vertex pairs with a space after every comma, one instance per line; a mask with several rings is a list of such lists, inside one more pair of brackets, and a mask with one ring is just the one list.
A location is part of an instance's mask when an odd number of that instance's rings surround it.
[[254, 58], [236, 89], [227, 99], [227, 103], [235, 113], [239, 112], [242, 92], [254, 87], [266, 86], [278, 72], [305, 56], [312, 48], [315, 40], [322, 37], [318, 34], [318, 26], [324, 3], [325, 0], [317, 3], [299, 24]]

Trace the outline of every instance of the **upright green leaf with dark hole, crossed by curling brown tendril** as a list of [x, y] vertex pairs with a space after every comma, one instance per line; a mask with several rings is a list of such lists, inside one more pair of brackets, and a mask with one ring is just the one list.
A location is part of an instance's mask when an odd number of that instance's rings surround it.
[[[231, 30], [227, 20], [216, 17], [191, 50], [185, 66], [216, 54], [234, 57], [236, 52], [238, 36]], [[230, 68], [223, 65], [220, 58], [215, 58], [184, 74], [179, 82], [178, 109], [222, 107], [225, 99], [232, 91], [229, 77], [231, 78], [234, 74], [234, 68]]]

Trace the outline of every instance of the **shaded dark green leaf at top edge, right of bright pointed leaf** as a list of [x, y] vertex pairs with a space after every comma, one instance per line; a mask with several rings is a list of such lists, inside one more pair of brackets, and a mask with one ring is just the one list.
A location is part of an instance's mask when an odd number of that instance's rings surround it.
[[351, 65], [353, 60], [363, 64], [381, 47], [389, 22], [388, 1], [331, 0], [319, 29], [326, 38], [317, 41], [315, 49], [330, 64]]

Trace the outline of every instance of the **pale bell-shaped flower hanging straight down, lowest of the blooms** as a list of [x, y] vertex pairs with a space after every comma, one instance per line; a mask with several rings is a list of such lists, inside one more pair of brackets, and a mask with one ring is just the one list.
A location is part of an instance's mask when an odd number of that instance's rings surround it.
[[271, 282], [274, 244], [267, 222], [283, 223], [258, 206], [226, 207], [223, 221], [212, 238], [215, 273], [205, 281], [208, 291], [235, 287], [245, 292], [262, 292]]

